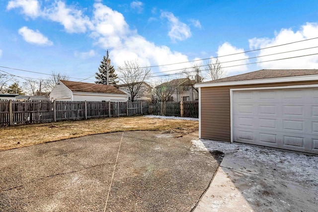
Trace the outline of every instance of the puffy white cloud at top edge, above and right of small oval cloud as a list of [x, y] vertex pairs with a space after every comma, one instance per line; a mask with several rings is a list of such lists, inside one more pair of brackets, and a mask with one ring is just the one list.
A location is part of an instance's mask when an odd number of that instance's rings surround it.
[[65, 2], [56, 1], [52, 7], [44, 9], [44, 16], [62, 24], [68, 33], [86, 32], [92, 26], [89, 17], [81, 10], [67, 7]]

